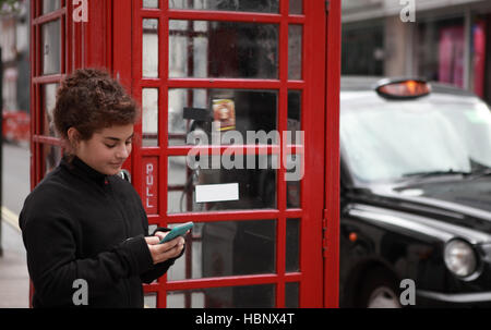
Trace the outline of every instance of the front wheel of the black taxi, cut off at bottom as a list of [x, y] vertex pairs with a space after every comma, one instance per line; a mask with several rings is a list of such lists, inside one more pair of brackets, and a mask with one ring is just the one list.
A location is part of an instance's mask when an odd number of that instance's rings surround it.
[[371, 271], [362, 279], [358, 300], [361, 308], [400, 308], [397, 281], [383, 269]]

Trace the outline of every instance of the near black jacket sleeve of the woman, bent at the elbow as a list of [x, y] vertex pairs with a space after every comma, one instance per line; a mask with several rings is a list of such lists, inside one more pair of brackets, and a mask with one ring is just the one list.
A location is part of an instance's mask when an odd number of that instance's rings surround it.
[[[34, 211], [36, 209], [36, 211]], [[83, 279], [91, 298], [107, 295], [120, 279], [139, 276], [152, 268], [152, 256], [143, 235], [131, 237], [92, 258], [77, 259], [74, 221], [52, 208], [32, 208], [20, 216], [27, 267], [36, 296], [44, 306], [70, 306]]]

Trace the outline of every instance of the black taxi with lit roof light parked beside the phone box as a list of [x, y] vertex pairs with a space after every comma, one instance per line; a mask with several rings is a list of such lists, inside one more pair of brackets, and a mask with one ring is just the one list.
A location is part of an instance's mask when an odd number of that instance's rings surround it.
[[339, 305], [491, 306], [488, 106], [423, 80], [346, 77], [339, 129]]

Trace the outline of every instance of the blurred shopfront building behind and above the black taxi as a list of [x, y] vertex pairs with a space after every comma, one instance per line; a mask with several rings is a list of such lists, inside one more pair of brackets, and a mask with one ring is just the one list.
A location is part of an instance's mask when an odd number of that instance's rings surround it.
[[[342, 3], [343, 74], [421, 76], [491, 102], [491, 1]], [[411, 9], [414, 22], [404, 22]]]

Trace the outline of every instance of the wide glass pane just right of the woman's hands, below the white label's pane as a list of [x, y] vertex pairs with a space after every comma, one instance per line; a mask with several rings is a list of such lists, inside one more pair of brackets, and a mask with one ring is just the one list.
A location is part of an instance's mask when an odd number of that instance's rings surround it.
[[274, 273], [276, 220], [195, 223], [185, 255], [169, 268], [169, 281]]

